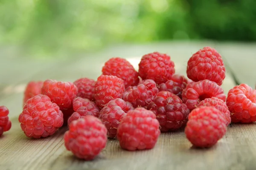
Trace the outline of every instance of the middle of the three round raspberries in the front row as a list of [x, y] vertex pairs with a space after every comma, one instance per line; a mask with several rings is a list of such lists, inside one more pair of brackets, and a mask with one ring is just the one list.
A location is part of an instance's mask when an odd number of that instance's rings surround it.
[[157, 143], [159, 135], [156, 115], [145, 108], [128, 111], [117, 129], [117, 139], [126, 150], [151, 149]]

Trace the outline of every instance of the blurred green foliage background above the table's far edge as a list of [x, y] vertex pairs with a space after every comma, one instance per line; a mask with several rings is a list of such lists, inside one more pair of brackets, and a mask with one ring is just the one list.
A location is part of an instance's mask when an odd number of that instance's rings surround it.
[[0, 0], [0, 44], [34, 57], [118, 43], [256, 40], [256, 0]]

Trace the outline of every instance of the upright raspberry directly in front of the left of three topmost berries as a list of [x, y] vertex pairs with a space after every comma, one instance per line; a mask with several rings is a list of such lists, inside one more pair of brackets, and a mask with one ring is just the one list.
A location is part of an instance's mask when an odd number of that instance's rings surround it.
[[103, 108], [113, 99], [121, 98], [125, 91], [124, 81], [116, 76], [101, 75], [95, 86], [96, 104]]

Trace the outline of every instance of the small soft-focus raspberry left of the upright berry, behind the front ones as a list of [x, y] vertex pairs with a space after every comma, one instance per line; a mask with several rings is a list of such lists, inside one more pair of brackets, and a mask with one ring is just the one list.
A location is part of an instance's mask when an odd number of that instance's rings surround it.
[[76, 96], [94, 101], [95, 81], [93, 79], [81, 78], [74, 82], [78, 89]]

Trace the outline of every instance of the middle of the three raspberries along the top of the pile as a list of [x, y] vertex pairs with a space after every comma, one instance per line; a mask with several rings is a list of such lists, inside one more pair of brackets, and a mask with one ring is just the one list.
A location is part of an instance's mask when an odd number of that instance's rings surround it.
[[142, 79], [153, 79], [157, 84], [166, 82], [175, 73], [174, 62], [167, 54], [154, 52], [145, 54], [139, 63]]

